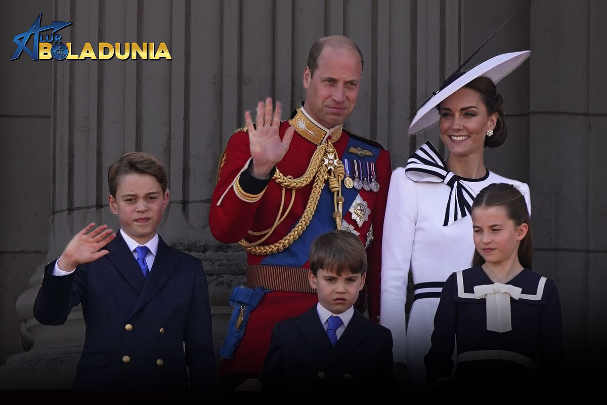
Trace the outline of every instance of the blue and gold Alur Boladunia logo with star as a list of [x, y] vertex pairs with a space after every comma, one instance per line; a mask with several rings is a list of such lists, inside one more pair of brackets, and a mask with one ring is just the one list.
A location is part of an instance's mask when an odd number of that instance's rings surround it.
[[[61, 29], [70, 26], [72, 22], [67, 21], [53, 21], [53, 24], [48, 26], [41, 26], [42, 13], [38, 15], [30, 27], [29, 30], [15, 35], [13, 42], [17, 44], [17, 49], [13, 53], [10, 60], [19, 59], [21, 53], [25, 51], [32, 60], [49, 60], [55, 58], [55, 60], [107, 60], [112, 59], [114, 56], [120, 60], [127, 59], [149, 59], [158, 60], [161, 58], [171, 60], [171, 53], [165, 43], [160, 43], [158, 48], [155, 49], [155, 44], [151, 43], [115, 43], [109, 44], [101, 42], [98, 44], [98, 52], [95, 53], [93, 46], [90, 43], [85, 43], [80, 54], [72, 54], [72, 43], [66, 42], [65, 44], [61, 41], [61, 35], [55, 34]], [[42, 31], [52, 30], [50, 34], [41, 33]], [[32, 48], [27, 47], [27, 43], [30, 38], [33, 37]], [[121, 52], [122, 50], [122, 52]]]

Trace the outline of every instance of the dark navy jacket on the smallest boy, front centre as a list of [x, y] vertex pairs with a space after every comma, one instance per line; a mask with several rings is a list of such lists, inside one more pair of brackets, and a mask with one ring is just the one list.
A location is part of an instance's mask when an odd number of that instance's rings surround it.
[[316, 305], [274, 327], [259, 379], [262, 390], [384, 390], [394, 386], [392, 334], [354, 308], [333, 346]]

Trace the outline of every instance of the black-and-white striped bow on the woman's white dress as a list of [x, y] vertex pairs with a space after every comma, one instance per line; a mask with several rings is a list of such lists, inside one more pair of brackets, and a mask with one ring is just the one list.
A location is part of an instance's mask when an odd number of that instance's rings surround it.
[[451, 188], [443, 226], [470, 215], [472, 202], [476, 197], [475, 192], [461, 181], [461, 177], [447, 169], [443, 157], [430, 141], [409, 156], [405, 172], [414, 182], [443, 182]]

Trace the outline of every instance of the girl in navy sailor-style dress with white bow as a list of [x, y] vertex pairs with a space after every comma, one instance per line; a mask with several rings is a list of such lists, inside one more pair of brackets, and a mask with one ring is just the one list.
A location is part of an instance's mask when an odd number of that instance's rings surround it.
[[449, 276], [436, 310], [424, 358], [430, 386], [453, 389], [455, 346], [463, 392], [554, 383], [563, 362], [561, 307], [554, 282], [531, 271], [524, 197], [509, 184], [486, 186], [474, 199], [472, 226], [472, 268]]

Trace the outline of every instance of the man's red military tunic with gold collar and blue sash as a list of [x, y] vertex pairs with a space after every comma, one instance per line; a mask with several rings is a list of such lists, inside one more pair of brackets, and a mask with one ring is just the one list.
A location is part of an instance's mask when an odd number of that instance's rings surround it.
[[[285, 157], [276, 165], [283, 175], [291, 175], [294, 179], [305, 174], [311, 157], [317, 146], [330, 138], [337, 157], [342, 161], [347, 159], [350, 163], [350, 177], [353, 179], [353, 162], [362, 163], [366, 174], [367, 162], [375, 163], [376, 182], [379, 183], [379, 191], [366, 191], [365, 189], [346, 189], [342, 182], [342, 193], [348, 192], [350, 196], [358, 194], [367, 203], [370, 213], [367, 220], [362, 220], [361, 225], [357, 217], [350, 213], [350, 202], [345, 202], [343, 207], [343, 219], [351, 228], [359, 233], [362, 243], [367, 247], [367, 290], [369, 317], [377, 321], [379, 315], [379, 285], [381, 274], [381, 239], [384, 225], [384, 211], [388, 194], [388, 185], [392, 166], [390, 153], [381, 145], [372, 140], [350, 134], [341, 128], [327, 130], [310, 120], [302, 111], [291, 122], [303, 118], [303, 121], [294, 124], [296, 133]], [[290, 126], [289, 121], [280, 124], [280, 137]], [[302, 128], [303, 127], [303, 128]], [[308, 131], [311, 130], [311, 131]], [[314, 134], [312, 134], [314, 133]], [[324, 135], [328, 135], [325, 137]], [[358, 149], [356, 149], [358, 147]], [[358, 151], [358, 153], [356, 153]], [[250, 231], [265, 231], [276, 222], [282, 199], [283, 188], [274, 180], [270, 180], [265, 190], [252, 190], [246, 182], [239, 181], [239, 174], [246, 169], [249, 158], [249, 137], [246, 131], [236, 132], [228, 141], [225, 152], [220, 161], [217, 186], [211, 200], [211, 211], [209, 213], [209, 225], [215, 239], [223, 243], [239, 242], [246, 239], [254, 242], [261, 236], [249, 234]], [[245, 177], [243, 174], [242, 177]], [[359, 174], [360, 177], [360, 174]], [[370, 177], [370, 174], [369, 174]], [[236, 180], [236, 185], [235, 185]], [[275, 243], [287, 235], [293, 226], [299, 221], [304, 213], [313, 181], [303, 188], [295, 191], [293, 205], [287, 216], [276, 226], [271, 235], [261, 245]], [[325, 189], [328, 186], [325, 184]], [[326, 192], [327, 190], [323, 190]], [[291, 202], [293, 189], [285, 190], [283, 213]], [[332, 194], [331, 194], [332, 195]], [[325, 197], [327, 197], [325, 195]], [[333, 200], [331, 198], [331, 206]], [[322, 197], [321, 197], [322, 199]], [[325, 206], [327, 200], [325, 199]], [[325, 213], [319, 208], [314, 215], [314, 223], [302, 233], [302, 235], [290, 247], [282, 252], [270, 255], [256, 255], [248, 253], [247, 262], [250, 265], [282, 265], [287, 267], [309, 268], [308, 254], [311, 241], [325, 231], [336, 229], [333, 219], [333, 210]], [[372, 231], [371, 231], [372, 228]], [[370, 232], [371, 231], [371, 232]], [[368, 239], [373, 235], [370, 244]], [[257, 287], [249, 285], [248, 287]], [[263, 287], [263, 286], [262, 286]], [[234, 359], [228, 365], [222, 364], [220, 374], [251, 373], [256, 374], [261, 370], [263, 358], [270, 347], [271, 330], [274, 324], [283, 319], [300, 315], [314, 302], [317, 302], [316, 294], [302, 292], [272, 291], [266, 293], [260, 304], [251, 311], [245, 335], [234, 353]]]

